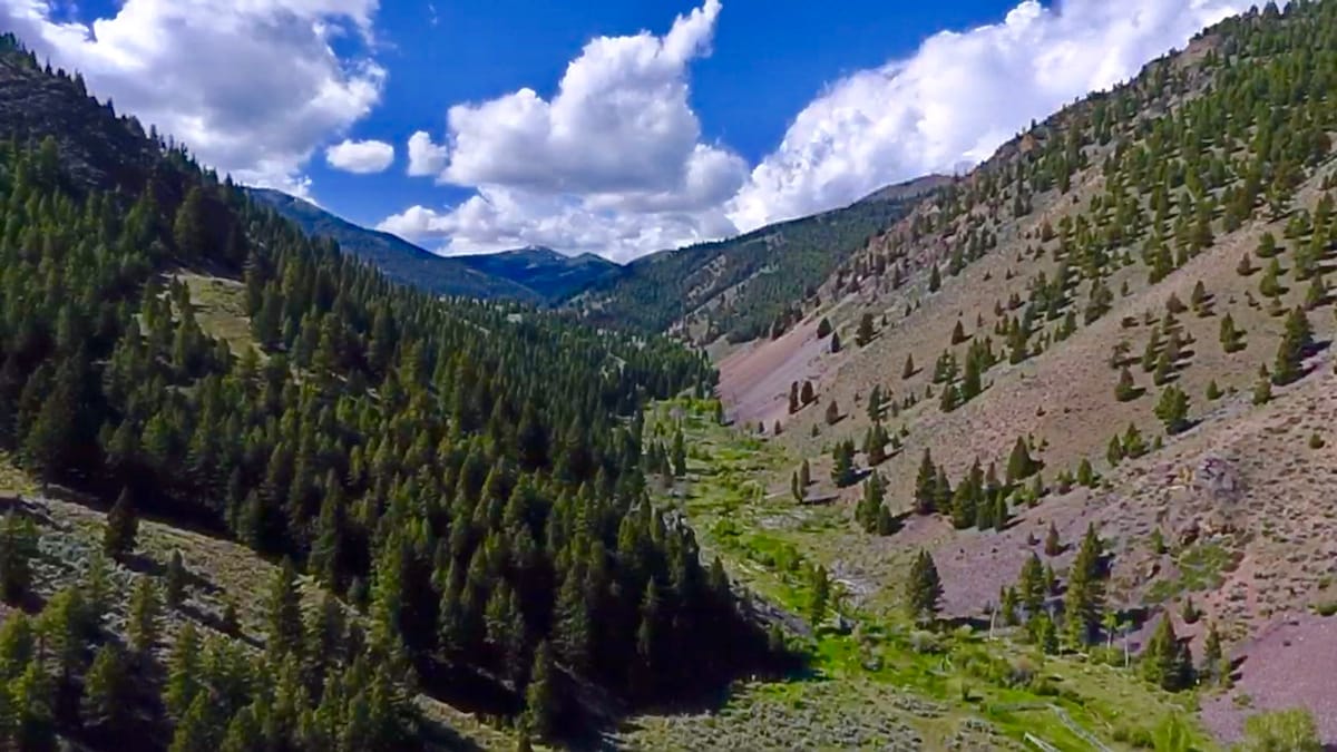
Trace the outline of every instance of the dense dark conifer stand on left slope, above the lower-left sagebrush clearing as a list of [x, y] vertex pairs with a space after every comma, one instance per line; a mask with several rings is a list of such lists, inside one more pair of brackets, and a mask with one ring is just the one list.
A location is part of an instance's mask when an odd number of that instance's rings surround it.
[[[213, 523], [366, 609], [385, 656], [517, 690], [540, 645], [635, 701], [762, 654], [723, 569], [646, 491], [647, 447], [675, 475], [685, 451], [646, 435], [642, 409], [709, 393], [702, 355], [392, 285], [12, 37], [0, 55], [136, 146], [87, 183], [51, 134], [0, 124], [0, 448], [41, 480], [119, 498], [108, 555], [134, 553], [139, 510]], [[206, 332], [182, 266], [241, 280], [254, 345]], [[20, 593], [21, 567], [0, 566]], [[138, 601], [140, 626], [162, 599]], [[402, 664], [357, 654], [345, 705]]]

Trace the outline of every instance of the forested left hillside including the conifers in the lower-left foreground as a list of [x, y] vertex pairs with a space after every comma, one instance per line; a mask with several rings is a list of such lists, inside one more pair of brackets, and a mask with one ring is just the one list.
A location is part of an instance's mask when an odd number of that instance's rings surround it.
[[[642, 407], [710, 393], [701, 356], [394, 285], [9, 36], [0, 91], [0, 448], [115, 502], [96, 566], [118, 575], [142, 512], [285, 562], [262, 645], [187, 614], [164, 672], [172, 567], [128, 605], [36, 591], [16, 577], [33, 512], [11, 504], [4, 595], [45, 610], [0, 630], [8, 744], [402, 749], [424, 743], [417, 690], [551, 737], [766, 658], [719, 562], [647, 495], [667, 438]], [[328, 620], [298, 571], [337, 597]], [[107, 599], [128, 629], [90, 606]]]

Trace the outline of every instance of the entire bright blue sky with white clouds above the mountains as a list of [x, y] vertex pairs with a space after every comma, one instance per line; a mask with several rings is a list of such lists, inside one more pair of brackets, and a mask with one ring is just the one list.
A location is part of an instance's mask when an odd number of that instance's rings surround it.
[[235, 179], [616, 261], [985, 159], [1251, 0], [0, 0]]

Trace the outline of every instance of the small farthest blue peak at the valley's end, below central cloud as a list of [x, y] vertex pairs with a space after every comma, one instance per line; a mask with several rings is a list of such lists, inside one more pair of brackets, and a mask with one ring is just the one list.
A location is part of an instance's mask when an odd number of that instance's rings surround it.
[[551, 305], [622, 274], [620, 265], [602, 256], [594, 253], [566, 256], [539, 246], [453, 258], [484, 274], [523, 285]]

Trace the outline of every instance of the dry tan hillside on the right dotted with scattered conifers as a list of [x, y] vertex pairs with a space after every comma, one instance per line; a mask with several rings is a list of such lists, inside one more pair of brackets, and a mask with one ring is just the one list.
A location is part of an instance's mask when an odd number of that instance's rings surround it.
[[[1195, 694], [1218, 740], [1298, 705], [1337, 741], [1313, 480], [1333, 442], [1334, 24], [1332, 1], [1231, 19], [1055, 114], [841, 264], [793, 329], [723, 361], [730, 415], [790, 458], [759, 482], [793, 499], [806, 459], [804, 495], [834, 498], [840, 533], [798, 550], [834, 549], [876, 605], [923, 549], [953, 621], [988, 620], [1036, 554], [1058, 589], [1017, 610], [1023, 641], [1043, 646], [1052, 614], [1052, 654], [1111, 637], [1138, 653], [1169, 622], [1194, 670], [1135, 669]], [[1079, 567], [1092, 525], [1100, 563]], [[1229, 668], [1205, 656], [1210, 632]]]

